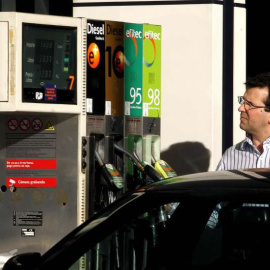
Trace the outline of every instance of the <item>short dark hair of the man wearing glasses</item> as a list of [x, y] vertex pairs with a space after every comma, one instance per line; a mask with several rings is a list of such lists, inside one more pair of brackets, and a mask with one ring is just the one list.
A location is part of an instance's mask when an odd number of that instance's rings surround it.
[[250, 88], [254, 88], [254, 87], [258, 87], [258, 88], [267, 87], [268, 96], [264, 103], [265, 103], [265, 106], [270, 107], [270, 93], [269, 93], [270, 92], [270, 72], [257, 74], [254, 77], [248, 78], [247, 81], [245, 82], [245, 85], [246, 85], [246, 90]]

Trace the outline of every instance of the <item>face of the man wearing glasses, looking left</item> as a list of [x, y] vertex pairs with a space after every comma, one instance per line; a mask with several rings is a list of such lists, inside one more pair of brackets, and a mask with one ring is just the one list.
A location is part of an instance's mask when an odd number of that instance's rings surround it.
[[[267, 88], [250, 88], [244, 94], [244, 99], [255, 106], [265, 106], [268, 95]], [[270, 113], [263, 108], [254, 108], [244, 103], [238, 108], [240, 114], [240, 128], [247, 133], [260, 134], [269, 129]]]

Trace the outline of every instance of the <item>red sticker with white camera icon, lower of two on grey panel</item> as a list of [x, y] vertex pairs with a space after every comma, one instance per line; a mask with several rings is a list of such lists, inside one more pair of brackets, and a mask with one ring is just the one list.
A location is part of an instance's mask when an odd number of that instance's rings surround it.
[[7, 187], [56, 187], [56, 177], [7, 177]]

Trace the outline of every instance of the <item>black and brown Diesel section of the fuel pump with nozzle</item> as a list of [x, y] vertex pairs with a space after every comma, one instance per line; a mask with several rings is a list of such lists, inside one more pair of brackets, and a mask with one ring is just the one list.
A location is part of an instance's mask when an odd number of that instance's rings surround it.
[[123, 191], [123, 161], [114, 151], [114, 144], [123, 145], [123, 46], [122, 22], [87, 20], [87, 136], [84, 139], [90, 153], [89, 215]]

